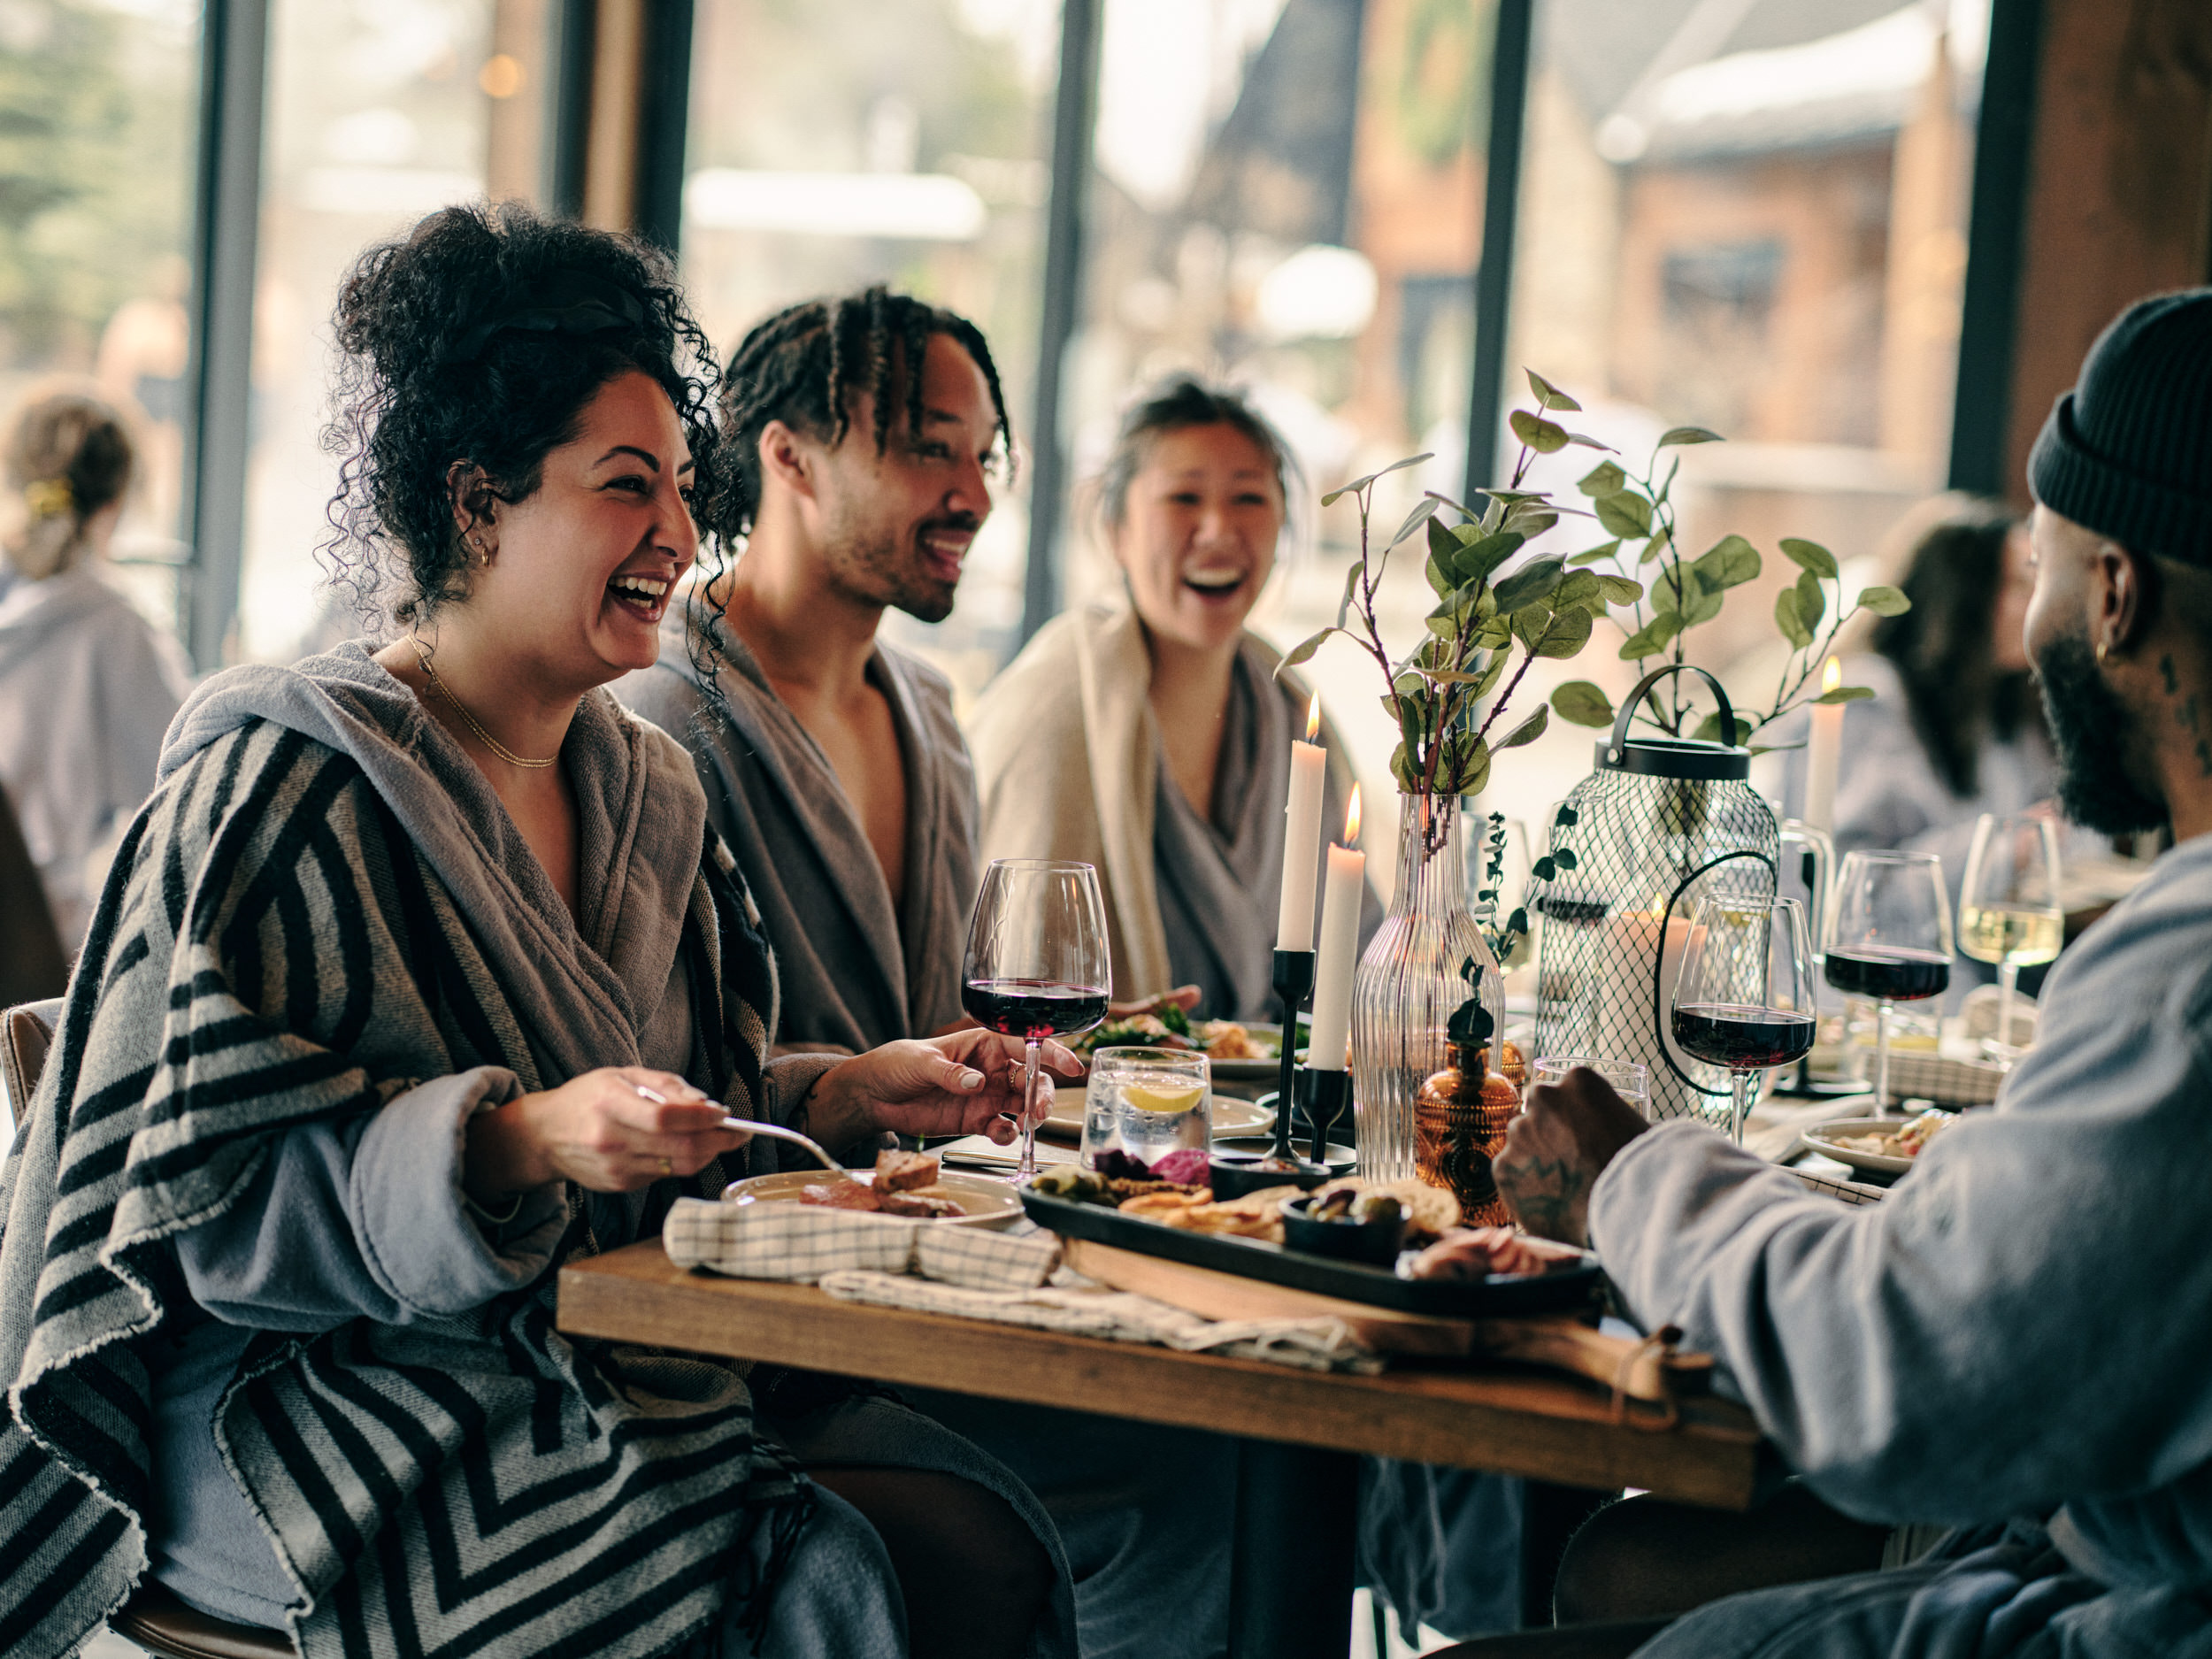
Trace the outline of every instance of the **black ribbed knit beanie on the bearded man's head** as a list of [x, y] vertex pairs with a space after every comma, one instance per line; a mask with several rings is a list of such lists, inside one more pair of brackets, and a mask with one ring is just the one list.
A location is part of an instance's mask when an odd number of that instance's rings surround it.
[[2028, 489], [2135, 553], [2212, 564], [2212, 288], [2137, 301], [2097, 336]]

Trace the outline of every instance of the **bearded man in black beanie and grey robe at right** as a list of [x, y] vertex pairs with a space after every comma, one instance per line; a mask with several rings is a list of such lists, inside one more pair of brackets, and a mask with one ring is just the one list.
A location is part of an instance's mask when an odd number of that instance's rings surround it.
[[2104, 332], [2028, 482], [2062, 801], [2174, 847], [2057, 962], [1995, 1110], [1865, 1208], [1588, 1071], [1531, 1091], [1498, 1161], [1524, 1221], [1721, 1360], [1805, 1489], [1955, 1531], [1562, 1652], [2212, 1655], [2212, 290]]

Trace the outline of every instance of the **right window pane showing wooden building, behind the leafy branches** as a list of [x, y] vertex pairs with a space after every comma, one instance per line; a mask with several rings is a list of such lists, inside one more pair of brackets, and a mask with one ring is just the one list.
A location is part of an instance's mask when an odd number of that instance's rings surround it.
[[[1863, 571], [1942, 487], [1986, 31], [1986, 0], [1537, 4], [1509, 394], [1540, 369], [1637, 467], [1672, 425], [1728, 438], [1679, 451], [1677, 498], [1692, 555], [1739, 531], [1765, 557], [1692, 635], [1743, 692], [1774, 686], [1774, 593], [1796, 575], [1776, 542]], [[1573, 491], [1588, 462], [1537, 476]], [[1595, 679], [1619, 699], [1617, 644], [1601, 628], [1540, 664], [1537, 690]], [[1588, 739], [1517, 752], [1504, 783], [1526, 799], [1504, 810], [1564, 794]]]

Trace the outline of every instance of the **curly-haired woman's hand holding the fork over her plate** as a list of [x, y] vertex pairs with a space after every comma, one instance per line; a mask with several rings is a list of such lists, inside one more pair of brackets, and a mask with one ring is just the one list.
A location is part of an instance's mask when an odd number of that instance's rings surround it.
[[721, 1119], [723, 1108], [675, 1073], [604, 1066], [471, 1117], [462, 1183], [484, 1206], [551, 1181], [637, 1192], [752, 1139]]

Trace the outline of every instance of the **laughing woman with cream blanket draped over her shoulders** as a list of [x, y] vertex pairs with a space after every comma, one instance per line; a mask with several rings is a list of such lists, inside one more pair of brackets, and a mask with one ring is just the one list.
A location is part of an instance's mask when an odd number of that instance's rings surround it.
[[[982, 858], [1077, 858], [1106, 889], [1117, 998], [1197, 984], [1197, 1013], [1272, 1020], [1290, 743], [1312, 692], [1245, 628], [1296, 462], [1237, 392], [1144, 392], [1097, 482], [1126, 597], [1055, 617], [969, 721]], [[1323, 825], [1352, 792], [1334, 728]], [[1367, 894], [1365, 929], [1380, 918]]]

